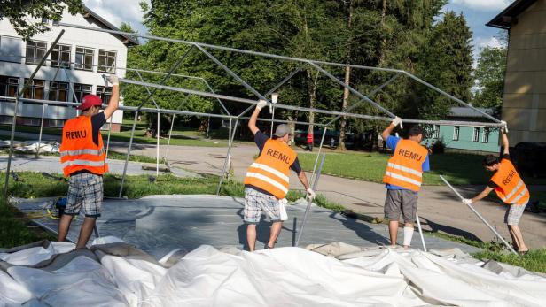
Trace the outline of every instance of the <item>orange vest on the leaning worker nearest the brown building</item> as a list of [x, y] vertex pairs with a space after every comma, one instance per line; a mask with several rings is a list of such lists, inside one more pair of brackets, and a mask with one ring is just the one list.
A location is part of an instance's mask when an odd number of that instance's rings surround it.
[[501, 159], [499, 169], [491, 181], [497, 185], [496, 195], [504, 203], [521, 205], [529, 200], [529, 190], [509, 159]]

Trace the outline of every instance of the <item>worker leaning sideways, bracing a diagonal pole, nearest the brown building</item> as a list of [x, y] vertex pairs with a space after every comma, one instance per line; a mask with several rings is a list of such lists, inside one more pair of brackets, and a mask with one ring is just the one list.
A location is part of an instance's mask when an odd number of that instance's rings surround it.
[[487, 155], [484, 157], [482, 164], [489, 172], [495, 172], [487, 187], [481, 191], [477, 196], [472, 199], [464, 199], [463, 203], [472, 204], [480, 201], [485, 196], [489, 195], [491, 191], [495, 190], [495, 193], [499, 198], [508, 205], [506, 213], [504, 214], [504, 223], [508, 226], [508, 230], [511, 235], [512, 242], [515, 249], [519, 251], [519, 254], [527, 254], [529, 249], [523, 241], [523, 234], [519, 229], [519, 219], [523, 215], [523, 211], [529, 202], [529, 190], [525, 182], [519, 176], [518, 171], [511, 163], [508, 136], [506, 135], [506, 122], [503, 121], [504, 127], [502, 130], [503, 140], [503, 157], [498, 158], [493, 155]]

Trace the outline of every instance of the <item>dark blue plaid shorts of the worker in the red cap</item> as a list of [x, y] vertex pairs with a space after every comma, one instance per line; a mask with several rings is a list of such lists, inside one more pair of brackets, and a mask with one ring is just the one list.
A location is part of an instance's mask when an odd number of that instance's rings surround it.
[[100, 217], [103, 194], [102, 176], [94, 173], [78, 173], [70, 176], [65, 214], [80, 214], [83, 204], [83, 213], [86, 217]]

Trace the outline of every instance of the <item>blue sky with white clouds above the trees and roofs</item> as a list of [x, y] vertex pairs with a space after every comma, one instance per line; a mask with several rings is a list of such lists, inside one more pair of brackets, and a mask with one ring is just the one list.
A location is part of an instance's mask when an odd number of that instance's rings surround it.
[[[125, 21], [139, 33], [145, 33], [146, 28], [142, 25], [142, 12], [138, 4], [140, 1], [83, 0], [83, 3], [116, 26], [120, 26], [121, 22]], [[150, 3], [150, 0], [145, 1]], [[499, 29], [486, 27], [485, 24], [512, 2], [513, 0], [449, 0], [443, 10], [463, 12], [472, 29], [474, 57], [476, 57], [481, 48], [499, 45], [495, 38], [499, 35]]]

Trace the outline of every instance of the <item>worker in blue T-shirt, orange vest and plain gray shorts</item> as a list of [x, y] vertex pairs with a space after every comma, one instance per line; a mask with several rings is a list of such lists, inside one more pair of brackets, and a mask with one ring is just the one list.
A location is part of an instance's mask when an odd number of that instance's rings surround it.
[[400, 125], [402, 119], [396, 117], [381, 134], [386, 146], [393, 150], [386, 165], [383, 182], [386, 184], [385, 217], [388, 219], [388, 231], [391, 246], [396, 246], [398, 222], [402, 213], [404, 220], [403, 247], [409, 248], [413, 237], [413, 223], [417, 218], [417, 193], [423, 183], [423, 172], [428, 171], [428, 150], [420, 143], [423, 140], [423, 128], [409, 128], [408, 139], [401, 139], [391, 133]]

